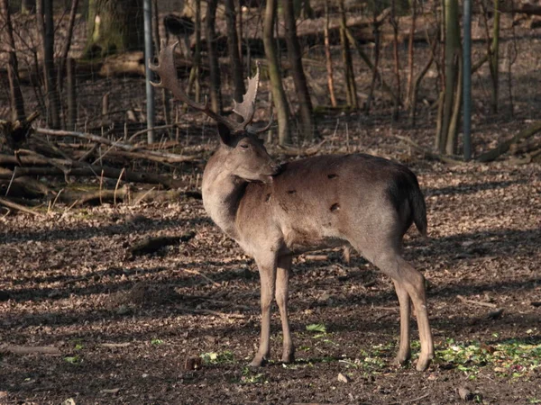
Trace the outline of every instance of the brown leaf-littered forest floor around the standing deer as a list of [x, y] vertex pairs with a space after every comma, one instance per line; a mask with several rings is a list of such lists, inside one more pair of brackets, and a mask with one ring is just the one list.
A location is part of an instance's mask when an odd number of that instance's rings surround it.
[[[505, 101], [491, 114], [488, 68], [474, 76], [476, 155], [539, 118], [541, 52], [532, 32], [518, 32], [513, 113]], [[476, 49], [479, 56], [484, 44]], [[390, 55], [384, 49], [384, 76]], [[325, 88], [325, 75], [314, 76]], [[362, 93], [370, 72], [358, 80]], [[134, 82], [97, 85], [120, 104], [135, 99], [123, 93]], [[429, 74], [424, 88], [435, 82]], [[322, 151], [392, 157], [418, 176], [430, 239], [412, 229], [405, 252], [427, 280], [436, 359], [426, 372], [415, 370], [417, 340], [412, 364], [392, 365], [398, 302], [390, 279], [362, 257], [349, 266], [340, 250], [295, 259], [289, 308], [297, 361], [278, 361], [275, 308], [274, 361], [254, 370], [247, 365], [259, 338], [259, 276], [201, 201], [57, 204], [38, 208], [42, 219], [0, 212], [0, 404], [541, 403], [541, 166], [419, 158], [396, 135], [430, 148], [434, 109], [421, 108], [410, 128], [390, 121], [379, 94], [370, 116], [322, 119], [330, 139]], [[99, 100], [85, 102], [98, 109]], [[420, 100], [434, 97], [424, 90]], [[211, 149], [212, 131], [189, 142]], [[200, 170], [188, 166], [194, 178]], [[189, 231], [196, 236], [179, 246], [130, 253], [143, 238]], [[21, 347], [51, 353], [12, 353]]]

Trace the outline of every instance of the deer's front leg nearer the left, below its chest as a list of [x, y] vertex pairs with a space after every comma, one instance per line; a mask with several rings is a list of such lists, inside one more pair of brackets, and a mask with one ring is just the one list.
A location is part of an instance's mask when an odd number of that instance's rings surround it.
[[276, 258], [265, 257], [255, 259], [260, 273], [261, 282], [261, 338], [260, 347], [253, 357], [253, 367], [264, 365], [271, 355], [271, 304], [276, 284]]

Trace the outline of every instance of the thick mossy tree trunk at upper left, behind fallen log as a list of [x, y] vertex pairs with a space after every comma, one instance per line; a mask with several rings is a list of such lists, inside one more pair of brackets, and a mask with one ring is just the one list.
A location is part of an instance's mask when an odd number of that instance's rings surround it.
[[89, 0], [84, 58], [144, 49], [142, 0]]

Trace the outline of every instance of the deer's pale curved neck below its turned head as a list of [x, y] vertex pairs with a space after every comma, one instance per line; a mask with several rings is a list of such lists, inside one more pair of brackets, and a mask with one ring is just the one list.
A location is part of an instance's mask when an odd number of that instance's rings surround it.
[[230, 238], [238, 240], [235, 218], [246, 182], [216, 165], [213, 158], [208, 161], [203, 174], [203, 205], [215, 224]]

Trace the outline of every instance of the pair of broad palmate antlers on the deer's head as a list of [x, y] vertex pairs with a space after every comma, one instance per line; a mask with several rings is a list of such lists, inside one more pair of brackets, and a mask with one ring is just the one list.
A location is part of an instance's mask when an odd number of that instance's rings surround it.
[[179, 85], [179, 79], [177, 78], [177, 69], [175, 67], [174, 59], [174, 51], [178, 44], [179, 42], [177, 41], [172, 45], [163, 45], [161, 47], [160, 55], [158, 56], [158, 65], [154, 65], [149, 61], [151, 70], [160, 76], [160, 83], [151, 82], [151, 85], [169, 89], [176, 99], [183, 103], [187, 103], [190, 107], [193, 107], [198, 111], [205, 112], [207, 116], [216, 122], [225, 124], [230, 130], [245, 130], [248, 124], [252, 122], [253, 114], [255, 112], [255, 97], [259, 85], [259, 65], [255, 76], [248, 79], [248, 91], [243, 96], [243, 103], [234, 103], [233, 111], [241, 115], [244, 119], [242, 123], [238, 123], [212, 111], [207, 102], [204, 104], [194, 102], [188, 97], [188, 94], [182, 90]]

